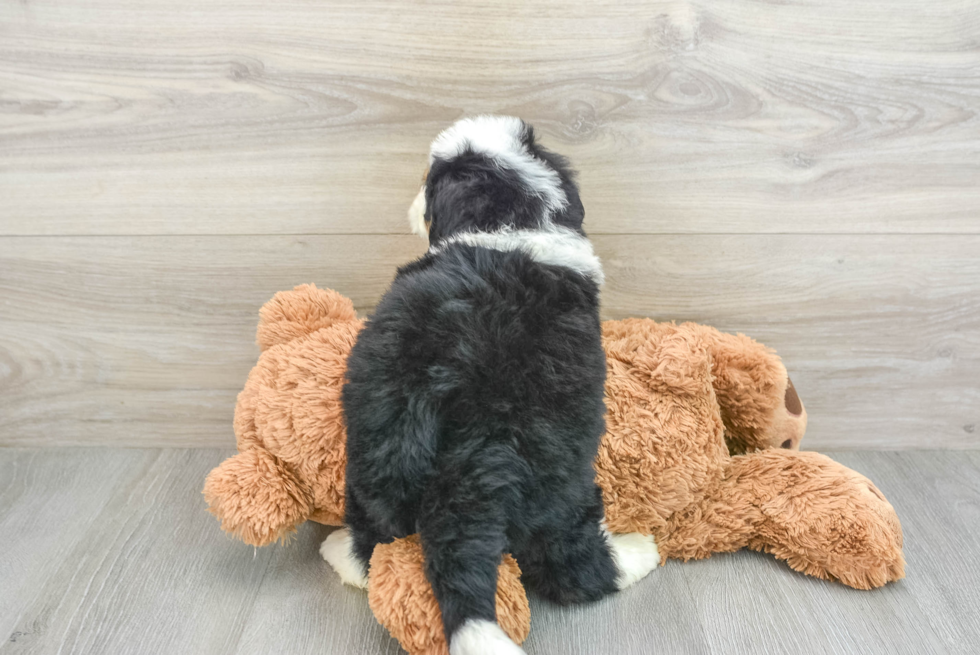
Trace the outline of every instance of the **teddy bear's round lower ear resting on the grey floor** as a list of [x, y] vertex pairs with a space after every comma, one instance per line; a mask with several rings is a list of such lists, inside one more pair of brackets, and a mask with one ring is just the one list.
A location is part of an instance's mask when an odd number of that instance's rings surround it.
[[311, 492], [262, 448], [229, 457], [211, 471], [204, 498], [221, 529], [251, 546], [285, 541], [313, 511]]

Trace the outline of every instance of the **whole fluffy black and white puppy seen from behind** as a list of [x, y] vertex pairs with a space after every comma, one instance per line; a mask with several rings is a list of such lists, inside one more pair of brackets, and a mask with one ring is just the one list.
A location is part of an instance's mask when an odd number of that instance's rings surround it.
[[375, 545], [418, 532], [452, 655], [521, 653], [496, 624], [502, 553], [560, 603], [659, 563], [602, 525], [602, 267], [568, 163], [517, 118], [440, 134], [409, 215], [429, 251], [347, 360], [347, 528], [321, 553], [365, 586]]

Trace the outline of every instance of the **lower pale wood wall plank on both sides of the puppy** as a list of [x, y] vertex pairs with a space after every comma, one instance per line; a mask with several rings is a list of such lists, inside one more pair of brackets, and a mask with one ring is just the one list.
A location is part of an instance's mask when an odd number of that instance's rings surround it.
[[[978, 445], [980, 237], [595, 243], [606, 317], [697, 320], [775, 347], [808, 407], [805, 445]], [[424, 248], [391, 236], [0, 246], [0, 443], [215, 447], [232, 443], [263, 302], [315, 281], [370, 311]]]

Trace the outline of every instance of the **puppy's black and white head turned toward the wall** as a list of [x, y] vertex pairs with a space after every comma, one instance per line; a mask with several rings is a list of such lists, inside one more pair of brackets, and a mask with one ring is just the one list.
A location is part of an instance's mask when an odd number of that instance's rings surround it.
[[437, 244], [460, 232], [559, 225], [582, 231], [585, 211], [561, 155], [534, 141], [519, 118], [478, 116], [436, 137], [408, 212], [412, 231]]

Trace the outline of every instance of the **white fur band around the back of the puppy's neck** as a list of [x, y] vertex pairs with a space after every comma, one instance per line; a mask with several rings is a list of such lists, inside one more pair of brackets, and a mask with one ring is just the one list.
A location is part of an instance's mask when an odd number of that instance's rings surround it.
[[564, 266], [602, 284], [602, 262], [592, 250], [592, 243], [584, 236], [567, 227], [549, 225], [540, 230], [502, 229], [496, 232], [460, 232], [439, 245], [429, 248], [438, 254], [447, 245], [465, 243], [470, 246], [500, 250], [520, 250], [536, 262]]

